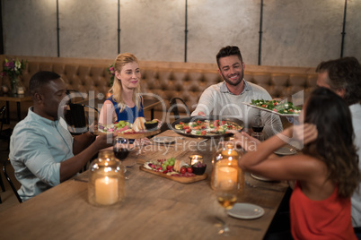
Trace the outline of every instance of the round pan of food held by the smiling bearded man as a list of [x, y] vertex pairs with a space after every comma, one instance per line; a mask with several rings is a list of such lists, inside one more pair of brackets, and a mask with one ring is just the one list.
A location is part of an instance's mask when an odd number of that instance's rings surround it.
[[172, 123], [172, 131], [187, 137], [220, 138], [232, 136], [227, 131], [241, 132], [243, 121], [234, 117], [223, 116], [191, 116], [178, 119]]

